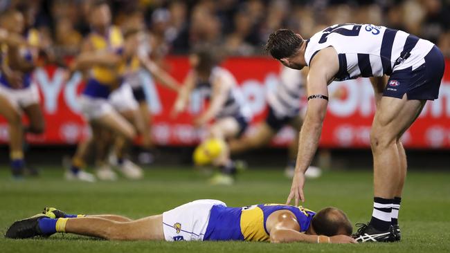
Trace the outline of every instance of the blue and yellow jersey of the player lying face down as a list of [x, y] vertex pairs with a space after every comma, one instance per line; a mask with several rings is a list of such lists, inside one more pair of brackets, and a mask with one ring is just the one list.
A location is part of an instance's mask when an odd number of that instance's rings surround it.
[[249, 207], [225, 207], [215, 205], [204, 241], [268, 241], [266, 221], [270, 214], [278, 210], [289, 210], [297, 218], [300, 232], [305, 232], [316, 214], [303, 207], [280, 204], [262, 204]]

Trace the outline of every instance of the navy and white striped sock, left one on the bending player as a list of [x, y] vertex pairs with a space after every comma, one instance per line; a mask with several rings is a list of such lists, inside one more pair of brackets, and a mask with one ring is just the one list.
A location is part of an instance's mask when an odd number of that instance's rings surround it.
[[370, 225], [380, 231], [386, 231], [390, 227], [390, 213], [392, 212], [393, 199], [373, 198], [373, 212]]

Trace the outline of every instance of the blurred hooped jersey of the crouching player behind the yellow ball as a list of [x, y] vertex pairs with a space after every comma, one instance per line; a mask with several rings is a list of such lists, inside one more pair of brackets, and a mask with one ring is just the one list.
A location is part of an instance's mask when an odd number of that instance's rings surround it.
[[230, 84], [232, 88], [228, 91], [226, 102], [215, 118], [243, 117], [246, 118], [246, 120], [250, 120], [252, 116], [251, 109], [244, 102], [244, 96], [237, 86], [235, 77], [225, 68], [214, 67], [208, 82], [197, 83], [195, 88], [201, 93], [201, 97], [210, 99], [213, 92], [211, 84], [216, 78], [222, 79], [222, 82]]

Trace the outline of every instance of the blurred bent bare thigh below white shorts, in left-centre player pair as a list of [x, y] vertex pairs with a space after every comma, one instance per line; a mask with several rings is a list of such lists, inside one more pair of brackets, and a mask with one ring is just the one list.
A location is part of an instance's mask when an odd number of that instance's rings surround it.
[[114, 110], [105, 112], [99, 118], [93, 120], [93, 122], [95, 122], [95, 124], [97, 125], [101, 125], [102, 127], [106, 127], [107, 129], [114, 131], [114, 133], [124, 135], [129, 139], [133, 139], [136, 135], [136, 131], [134, 130], [133, 125]]

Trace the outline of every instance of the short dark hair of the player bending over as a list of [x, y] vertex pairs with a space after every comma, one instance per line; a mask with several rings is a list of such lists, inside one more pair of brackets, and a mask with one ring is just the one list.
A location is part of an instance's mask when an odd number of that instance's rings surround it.
[[275, 59], [290, 57], [297, 53], [302, 46], [303, 39], [289, 29], [279, 29], [269, 35], [264, 51]]

